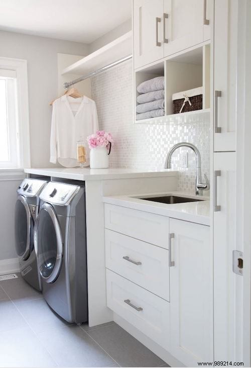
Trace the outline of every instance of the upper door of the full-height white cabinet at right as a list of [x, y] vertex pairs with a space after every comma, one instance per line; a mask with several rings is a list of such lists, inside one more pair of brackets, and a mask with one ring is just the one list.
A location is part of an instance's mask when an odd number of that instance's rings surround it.
[[214, 8], [214, 151], [235, 151], [236, 0], [215, 0]]

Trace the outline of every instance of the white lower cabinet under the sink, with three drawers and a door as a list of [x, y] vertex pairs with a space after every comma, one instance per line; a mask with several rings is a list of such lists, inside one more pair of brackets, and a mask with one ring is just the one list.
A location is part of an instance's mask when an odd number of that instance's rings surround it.
[[105, 205], [105, 227], [107, 306], [185, 366], [213, 362], [209, 226]]

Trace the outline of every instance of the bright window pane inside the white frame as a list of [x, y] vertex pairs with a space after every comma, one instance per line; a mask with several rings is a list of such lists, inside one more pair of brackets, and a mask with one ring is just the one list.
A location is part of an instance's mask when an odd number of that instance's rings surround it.
[[13, 70], [0, 70], [0, 167], [20, 167], [17, 122], [17, 78]]

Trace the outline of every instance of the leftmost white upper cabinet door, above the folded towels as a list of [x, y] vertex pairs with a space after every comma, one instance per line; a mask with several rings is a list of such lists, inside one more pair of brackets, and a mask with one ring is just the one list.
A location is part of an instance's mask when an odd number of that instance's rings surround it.
[[163, 0], [134, 0], [134, 67], [161, 59]]

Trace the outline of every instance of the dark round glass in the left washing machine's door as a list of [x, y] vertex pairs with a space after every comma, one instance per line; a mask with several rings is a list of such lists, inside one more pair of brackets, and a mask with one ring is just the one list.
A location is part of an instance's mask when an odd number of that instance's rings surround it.
[[27, 203], [25, 200], [18, 199], [15, 208], [15, 240], [17, 254], [20, 257], [24, 257], [30, 248], [29, 227], [31, 222], [31, 213]]

